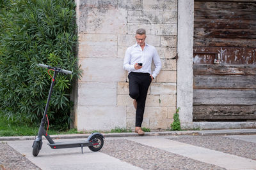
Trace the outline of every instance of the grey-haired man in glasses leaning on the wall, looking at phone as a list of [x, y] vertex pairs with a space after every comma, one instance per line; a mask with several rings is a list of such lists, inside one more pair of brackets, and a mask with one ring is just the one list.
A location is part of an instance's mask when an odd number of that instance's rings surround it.
[[[138, 29], [135, 38], [137, 43], [127, 48], [125, 52], [124, 69], [129, 71], [129, 95], [134, 99], [133, 104], [136, 109], [135, 132], [143, 135], [141, 124], [148, 87], [161, 69], [161, 60], [156, 48], [145, 43], [147, 38], [145, 29]], [[155, 64], [153, 72], [152, 60]]]

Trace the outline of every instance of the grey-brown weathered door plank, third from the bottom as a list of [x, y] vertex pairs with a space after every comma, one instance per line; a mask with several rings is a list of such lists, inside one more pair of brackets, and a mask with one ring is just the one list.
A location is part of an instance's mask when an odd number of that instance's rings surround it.
[[194, 89], [256, 89], [256, 76], [195, 75]]

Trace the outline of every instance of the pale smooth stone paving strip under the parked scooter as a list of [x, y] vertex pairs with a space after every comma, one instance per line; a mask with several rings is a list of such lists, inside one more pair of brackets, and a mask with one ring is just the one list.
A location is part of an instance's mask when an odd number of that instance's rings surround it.
[[[72, 141], [74, 139], [71, 139]], [[75, 139], [81, 140], [81, 139]], [[70, 139], [56, 140], [70, 141]], [[41, 169], [141, 169], [132, 166], [127, 162], [123, 162], [114, 157], [110, 157], [102, 152], [92, 152], [88, 147], [84, 147], [84, 154], [81, 148], [65, 148], [60, 150], [52, 150], [47, 146], [47, 141], [43, 140], [42, 150], [37, 157], [32, 155], [33, 141], [8, 141], [8, 145], [12, 146], [19, 153], [26, 155], [26, 158], [36, 164]]]

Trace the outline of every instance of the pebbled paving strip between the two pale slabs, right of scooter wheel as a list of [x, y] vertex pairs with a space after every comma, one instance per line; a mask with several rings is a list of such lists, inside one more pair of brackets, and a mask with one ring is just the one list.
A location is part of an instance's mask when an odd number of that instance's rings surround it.
[[143, 169], [223, 169], [126, 139], [107, 141], [102, 152]]

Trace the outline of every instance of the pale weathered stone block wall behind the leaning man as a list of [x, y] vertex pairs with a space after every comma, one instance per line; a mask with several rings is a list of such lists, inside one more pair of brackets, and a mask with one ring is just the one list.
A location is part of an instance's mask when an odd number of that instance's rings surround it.
[[122, 66], [125, 50], [136, 43], [139, 28], [146, 29], [146, 42], [156, 46], [162, 62], [162, 70], [148, 90], [143, 127], [170, 128], [176, 109], [177, 0], [76, 3], [78, 57], [83, 70], [75, 102], [77, 129], [134, 129], [135, 110]]

